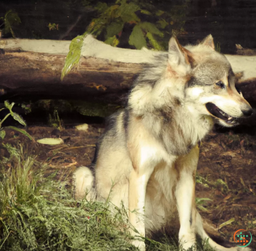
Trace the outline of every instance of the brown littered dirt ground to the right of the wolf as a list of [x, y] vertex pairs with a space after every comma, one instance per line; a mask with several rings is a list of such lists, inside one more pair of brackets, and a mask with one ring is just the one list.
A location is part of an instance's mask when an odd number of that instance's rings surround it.
[[[250, 129], [247, 129], [247, 132]], [[246, 131], [246, 129], [244, 129]], [[220, 235], [234, 242], [236, 230], [249, 230], [256, 247], [256, 137], [239, 130], [215, 130], [202, 142], [197, 169], [196, 197], [210, 198], [199, 210]], [[200, 177], [204, 177], [202, 184]]]

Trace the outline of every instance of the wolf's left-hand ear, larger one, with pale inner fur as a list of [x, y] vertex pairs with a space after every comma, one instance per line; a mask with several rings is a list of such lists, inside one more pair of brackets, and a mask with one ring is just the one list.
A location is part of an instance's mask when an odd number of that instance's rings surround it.
[[177, 64], [178, 66], [190, 64], [189, 53], [187, 49], [179, 44], [176, 37], [171, 37], [169, 41], [169, 61], [171, 64]]

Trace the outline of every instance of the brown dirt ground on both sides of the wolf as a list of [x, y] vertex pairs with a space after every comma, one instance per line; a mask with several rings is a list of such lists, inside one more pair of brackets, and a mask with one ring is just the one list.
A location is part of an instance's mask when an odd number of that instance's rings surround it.
[[[28, 126], [27, 132], [34, 142], [12, 129], [6, 129], [2, 142], [23, 144], [29, 154], [52, 169], [75, 170], [89, 165], [99, 135], [104, 131], [103, 123], [90, 122], [87, 132], [66, 126], [58, 130], [49, 126]], [[245, 133], [246, 132], [246, 133]], [[62, 145], [42, 145], [36, 142], [44, 137], [61, 137]], [[1, 155], [6, 150], [0, 146]], [[254, 129], [215, 129], [202, 142], [197, 171], [196, 197], [201, 200], [199, 211], [213, 227], [215, 235], [234, 242], [233, 235], [239, 229], [249, 230], [252, 237], [250, 247], [256, 247], [256, 136]], [[232, 219], [222, 227], [221, 224]], [[217, 232], [217, 230], [219, 231]]]

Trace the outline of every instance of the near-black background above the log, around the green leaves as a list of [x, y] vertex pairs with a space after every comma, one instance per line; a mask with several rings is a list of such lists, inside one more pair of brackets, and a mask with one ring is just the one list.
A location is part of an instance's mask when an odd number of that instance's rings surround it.
[[[95, 9], [98, 2], [106, 2], [107, 6], [115, 4], [115, 1], [88, 0], [2, 0], [0, 2], [0, 17], [3, 17], [9, 9], [17, 12], [21, 24], [13, 27], [13, 30], [16, 37], [19, 38], [71, 40], [83, 34], [93, 18], [99, 17], [99, 12]], [[164, 47], [166, 47], [167, 36], [171, 36], [172, 32], [170, 31], [173, 28], [180, 31], [180, 27], [182, 27], [182, 32], [179, 32], [178, 37], [183, 44], [195, 43], [207, 34], [212, 34], [215, 44], [220, 46], [224, 53], [235, 53], [235, 44], [249, 48], [256, 47], [255, 0], [153, 0], [139, 2], [151, 4], [155, 7], [155, 11], [166, 11], [172, 17], [175, 12], [175, 18], [180, 18], [179, 20], [175, 19], [177, 21], [172, 24], [173, 27], [163, 29], [165, 32], [165, 39], [162, 38]], [[142, 21], [152, 23], [157, 21], [154, 14], [151, 16], [142, 12], [136, 12], [136, 14]], [[2, 22], [0, 21], [0, 25]], [[58, 29], [50, 30], [49, 23], [58, 24]], [[124, 25], [118, 47], [132, 48], [128, 41], [134, 25], [132, 23]], [[72, 29], [69, 30], [71, 27]], [[102, 32], [98, 39], [104, 41], [104, 36], [106, 34]], [[4, 34], [4, 37], [11, 37], [11, 34]], [[161, 42], [159, 39], [158, 41]]]

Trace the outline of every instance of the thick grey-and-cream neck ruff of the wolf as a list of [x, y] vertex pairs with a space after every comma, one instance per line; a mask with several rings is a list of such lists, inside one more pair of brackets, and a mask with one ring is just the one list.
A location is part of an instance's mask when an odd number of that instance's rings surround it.
[[129, 95], [129, 110], [164, 144], [168, 154], [184, 155], [212, 129], [212, 117], [197, 114], [185, 100], [188, 76], [169, 67], [168, 54], [155, 57]]

